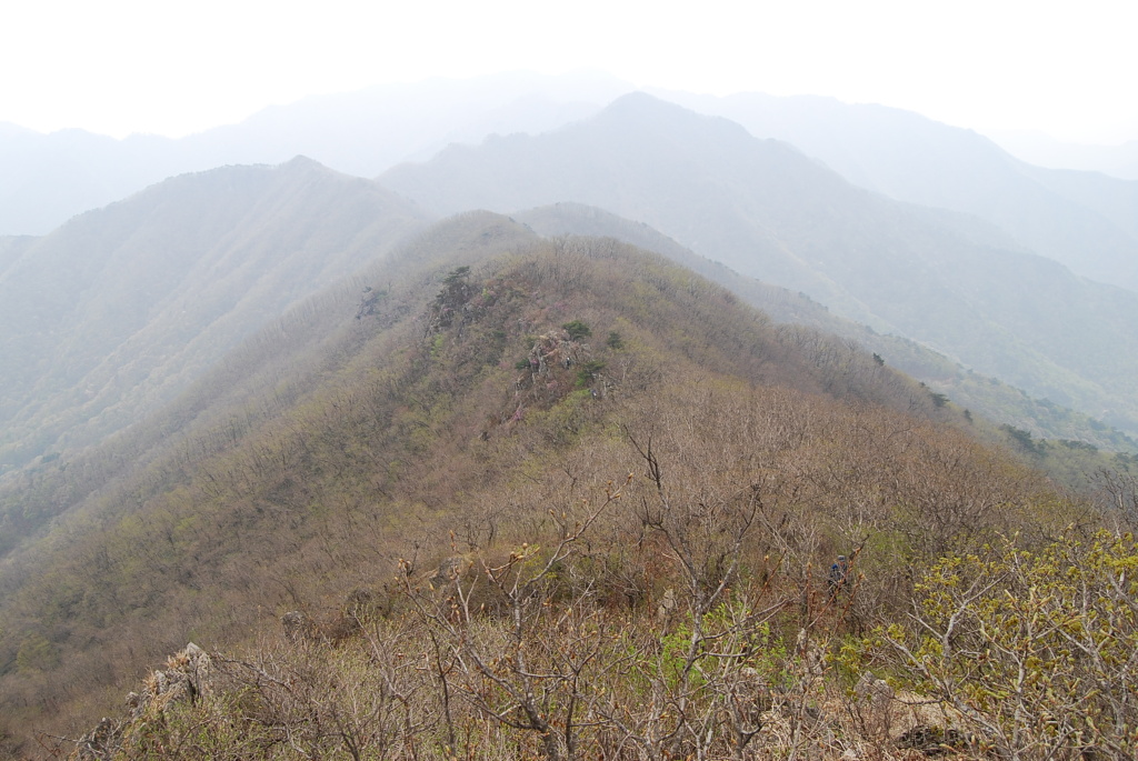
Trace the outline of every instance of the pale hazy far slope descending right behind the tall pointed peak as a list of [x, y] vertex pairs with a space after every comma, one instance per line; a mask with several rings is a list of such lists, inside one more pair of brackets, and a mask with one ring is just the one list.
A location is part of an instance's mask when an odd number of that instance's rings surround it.
[[1138, 182], [1041, 169], [991, 140], [918, 114], [831, 98], [661, 93], [793, 143], [850, 182], [974, 214], [1092, 280], [1138, 290]]

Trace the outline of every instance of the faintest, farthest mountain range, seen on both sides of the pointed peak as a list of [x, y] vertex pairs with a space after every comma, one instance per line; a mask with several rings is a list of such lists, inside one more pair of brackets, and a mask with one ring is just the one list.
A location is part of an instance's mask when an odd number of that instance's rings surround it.
[[[305, 155], [373, 176], [448, 143], [538, 134], [587, 118], [634, 89], [602, 74], [435, 80], [307, 98], [180, 140], [116, 141], [75, 130], [41, 135], [0, 125], [0, 235], [47, 233], [167, 176], [226, 164]], [[974, 132], [882, 106], [655, 94], [790, 142], [853, 184], [976, 215], [1072, 272], [1138, 289], [1138, 181], [1031, 166]]]

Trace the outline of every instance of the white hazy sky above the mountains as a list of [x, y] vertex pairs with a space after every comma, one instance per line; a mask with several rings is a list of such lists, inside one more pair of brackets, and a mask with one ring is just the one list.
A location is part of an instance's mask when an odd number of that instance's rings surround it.
[[431, 76], [880, 102], [958, 126], [1138, 139], [1135, 0], [11, 0], [0, 122], [182, 135]]

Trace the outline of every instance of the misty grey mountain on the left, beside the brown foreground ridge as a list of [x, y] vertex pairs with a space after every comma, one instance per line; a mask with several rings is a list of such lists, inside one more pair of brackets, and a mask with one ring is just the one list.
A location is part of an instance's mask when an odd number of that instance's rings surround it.
[[295, 159], [175, 177], [35, 240], [0, 272], [2, 462], [168, 400], [418, 220], [372, 182]]

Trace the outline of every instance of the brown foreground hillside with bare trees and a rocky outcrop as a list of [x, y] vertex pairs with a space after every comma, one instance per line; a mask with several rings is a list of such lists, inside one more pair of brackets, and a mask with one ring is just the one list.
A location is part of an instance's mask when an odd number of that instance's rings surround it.
[[[0, 733], [14, 754], [38, 737], [127, 758], [890, 758], [918, 725], [962, 747], [1132, 750], [1118, 689], [1085, 690], [1094, 726], [1055, 703], [1081, 733], [1055, 741], [959, 692], [967, 661], [901, 656], [930, 579], [971, 584], [940, 557], [1073, 547], [1088, 584], [1133, 557], [1072, 545], [1107, 541], [1100, 514], [968, 429], [654, 255], [463, 215], [40, 472], [71, 497], [0, 565]], [[190, 640], [212, 655], [173, 659], [121, 715]], [[857, 703], [869, 668], [957, 719]]]

